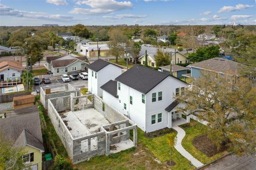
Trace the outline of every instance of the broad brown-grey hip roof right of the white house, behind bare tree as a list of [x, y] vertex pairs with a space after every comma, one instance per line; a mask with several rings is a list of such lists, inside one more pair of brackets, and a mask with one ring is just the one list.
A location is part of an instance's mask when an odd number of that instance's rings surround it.
[[240, 75], [239, 68], [242, 66], [241, 64], [225, 59], [225, 58], [211, 58], [209, 60], [205, 60], [202, 62], [190, 64], [190, 67], [196, 67], [199, 69], [205, 69], [220, 73], [227, 73], [232, 75]]

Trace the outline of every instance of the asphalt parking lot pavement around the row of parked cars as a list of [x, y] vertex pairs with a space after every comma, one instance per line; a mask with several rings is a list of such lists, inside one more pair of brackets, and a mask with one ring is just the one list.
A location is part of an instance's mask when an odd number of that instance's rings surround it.
[[50, 84], [43, 84], [42, 83], [40, 86], [39, 85], [35, 85], [33, 87], [33, 93], [36, 94], [37, 90], [40, 91], [40, 87], [41, 86], [51, 86], [51, 85], [55, 85], [55, 84], [64, 84], [64, 83], [70, 83], [75, 88], [87, 88], [88, 87], [88, 81], [87, 80], [82, 80], [80, 78], [78, 80], [71, 80], [70, 79], [70, 82], [62, 82], [61, 77], [55, 77], [55, 78], [50, 78], [50, 79], [51, 79], [51, 83]]

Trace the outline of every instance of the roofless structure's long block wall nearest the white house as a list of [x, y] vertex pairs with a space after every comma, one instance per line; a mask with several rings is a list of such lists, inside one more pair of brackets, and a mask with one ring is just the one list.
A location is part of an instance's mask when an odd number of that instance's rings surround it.
[[[103, 100], [94, 95], [93, 98], [94, 108], [100, 112], [109, 122], [119, 122], [125, 120], [125, 117], [116, 112], [112, 107], [107, 104], [103, 104]], [[103, 108], [104, 105], [104, 108]], [[104, 111], [103, 111], [104, 110]]]

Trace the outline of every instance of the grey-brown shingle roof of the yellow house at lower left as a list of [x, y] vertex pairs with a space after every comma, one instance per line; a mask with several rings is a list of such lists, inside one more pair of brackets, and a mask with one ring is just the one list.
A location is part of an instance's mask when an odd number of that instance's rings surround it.
[[0, 119], [0, 131], [7, 140], [14, 141], [15, 146], [28, 144], [44, 150], [41, 122], [37, 106], [19, 108], [11, 117]]

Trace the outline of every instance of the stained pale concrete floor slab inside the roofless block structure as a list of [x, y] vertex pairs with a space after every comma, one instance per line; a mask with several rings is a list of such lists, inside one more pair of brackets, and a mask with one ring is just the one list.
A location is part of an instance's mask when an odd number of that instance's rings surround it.
[[67, 121], [70, 133], [74, 138], [82, 137], [99, 132], [103, 125], [110, 124], [106, 118], [94, 108], [84, 109], [84, 111], [66, 112], [63, 121]]

